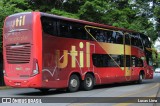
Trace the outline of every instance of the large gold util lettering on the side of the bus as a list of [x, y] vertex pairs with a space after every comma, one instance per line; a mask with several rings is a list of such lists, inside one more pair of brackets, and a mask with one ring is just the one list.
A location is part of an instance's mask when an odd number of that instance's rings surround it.
[[[56, 50], [57, 54], [57, 65], [58, 68], [65, 68], [68, 65], [68, 57], [71, 57], [71, 67], [75, 68], [76, 64], [79, 67], [84, 67], [84, 60], [86, 61], [86, 67], [90, 67], [90, 43], [86, 42], [85, 44], [86, 50], [85, 53], [82, 49], [84, 49], [83, 42], [79, 43], [80, 51], [76, 50], [76, 46], [72, 45], [71, 50], [63, 50], [63, 55], [60, 56], [60, 50]], [[81, 51], [82, 50], [82, 51]], [[85, 58], [84, 58], [85, 55]], [[61, 61], [63, 56], [63, 62]]]

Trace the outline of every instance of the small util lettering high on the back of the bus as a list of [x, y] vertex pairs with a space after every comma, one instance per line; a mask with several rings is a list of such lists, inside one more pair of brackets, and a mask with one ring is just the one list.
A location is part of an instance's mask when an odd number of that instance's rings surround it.
[[15, 27], [19, 27], [19, 26], [24, 26], [25, 25], [25, 20], [26, 20], [25, 15], [19, 16], [18, 18], [11, 21], [11, 27], [15, 28]]

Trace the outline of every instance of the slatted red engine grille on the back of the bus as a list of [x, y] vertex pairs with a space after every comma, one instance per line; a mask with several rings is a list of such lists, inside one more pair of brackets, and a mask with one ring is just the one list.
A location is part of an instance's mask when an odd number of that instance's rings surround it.
[[29, 63], [31, 56], [31, 45], [8, 45], [6, 46], [6, 58], [9, 64]]

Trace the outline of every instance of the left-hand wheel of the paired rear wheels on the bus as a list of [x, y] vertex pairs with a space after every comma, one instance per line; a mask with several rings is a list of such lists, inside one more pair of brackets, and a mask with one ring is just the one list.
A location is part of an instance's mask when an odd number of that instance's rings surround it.
[[71, 75], [68, 82], [68, 91], [75, 92], [79, 89], [79, 86], [80, 86], [79, 77], [76, 74]]

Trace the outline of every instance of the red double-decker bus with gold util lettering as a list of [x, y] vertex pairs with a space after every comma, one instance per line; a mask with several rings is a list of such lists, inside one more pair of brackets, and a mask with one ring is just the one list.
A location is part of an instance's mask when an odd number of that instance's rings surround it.
[[41, 91], [153, 78], [151, 42], [135, 31], [41, 12], [6, 18], [5, 84]]

